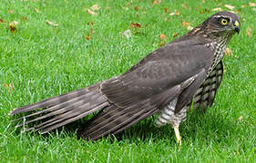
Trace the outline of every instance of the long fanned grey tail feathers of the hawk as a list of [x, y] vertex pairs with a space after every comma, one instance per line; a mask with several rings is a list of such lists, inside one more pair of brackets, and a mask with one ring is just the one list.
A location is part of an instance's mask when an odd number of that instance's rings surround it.
[[108, 98], [98, 91], [98, 86], [99, 84], [96, 84], [78, 91], [71, 91], [45, 101], [17, 108], [9, 114], [29, 112], [26, 116], [16, 119], [25, 119], [16, 127], [34, 123], [33, 127], [26, 130], [41, 130], [42, 133], [46, 133], [107, 107], [109, 105]]

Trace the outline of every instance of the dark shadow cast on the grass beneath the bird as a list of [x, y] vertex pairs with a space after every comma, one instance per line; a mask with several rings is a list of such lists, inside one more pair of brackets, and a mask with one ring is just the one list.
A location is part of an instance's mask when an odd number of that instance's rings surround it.
[[[77, 129], [82, 129], [85, 121], [86, 120], [77, 120], [63, 128], [55, 129], [49, 134], [43, 134], [42, 136], [46, 140], [51, 137], [62, 139], [65, 139], [66, 137], [73, 137], [74, 135], [77, 135]], [[236, 128], [236, 122], [223, 117], [220, 111], [214, 112], [214, 110], [208, 110], [206, 113], [202, 111], [189, 112], [187, 120], [180, 125], [179, 131], [183, 141], [186, 141], [186, 139], [200, 139], [205, 141], [214, 139], [215, 141], [221, 141]], [[15, 129], [16, 135], [19, 135], [20, 132], [21, 129]], [[38, 135], [38, 132], [30, 131], [26, 134], [33, 137]], [[133, 125], [129, 129], [126, 129], [115, 136], [108, 135], [103, 139], [107, 139], [109, 143], [116, 140], [130, 143], [167, 139], [170, 139], [173, 142], [176, 141], [173, 129], [169, 125], [161, 128], [155, 127], [154, 118], [142, 120], [138, 124]]]

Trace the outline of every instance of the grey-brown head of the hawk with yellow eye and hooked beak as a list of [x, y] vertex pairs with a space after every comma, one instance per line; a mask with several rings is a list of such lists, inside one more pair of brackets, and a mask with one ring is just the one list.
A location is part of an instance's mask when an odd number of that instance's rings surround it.
[[227, 11], [212, 14], [205, 22], [193, 29], [191, 33], [202, 34], [211, 39], [230, 38], [231, 35], [240, 33], [240, 17]]

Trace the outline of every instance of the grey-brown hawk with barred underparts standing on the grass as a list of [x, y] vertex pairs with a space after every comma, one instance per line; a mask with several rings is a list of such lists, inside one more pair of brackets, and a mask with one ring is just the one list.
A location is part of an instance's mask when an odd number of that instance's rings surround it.
[[46, 133], [89, 114], [78, 138], [95, 140], [116, 134], [159, 112], [157, 126], [169, 124], [181, 143], [179, 123], [191, 105], [210, 107], [223, 74], [230, 38], [240, 32], [240, 17], [211, 15], [178, 39], [149, 53], [127, 72], [87, 88], [67, 92], [10, 112], [28, 112], [17, 127]]

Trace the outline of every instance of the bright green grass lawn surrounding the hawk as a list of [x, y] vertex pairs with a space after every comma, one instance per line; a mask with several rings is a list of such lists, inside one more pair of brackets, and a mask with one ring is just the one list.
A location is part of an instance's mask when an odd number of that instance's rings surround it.
[[[188, 8], [181, 6], [184, 3]], [[248, 3], [1, 1], [0, 18], [6, 22], [0, 24], [1, 162], [255, 162], [255, 7], [241, 7]], [[87, 8], [95, 4], [100, 7], [98, 14], [87, 14]], [[205, 114], [190, 112], [181, 124], [181, 147], [172, 129], [157, 129], [152, 119], [134, 125], [118, 139], [96, 142], [77, 140], [66, 131], [51, 132], [48, 137], [20, 133], [10, 123], [10, 110], [125, 72], [159, 48], [159, 34], [165, 34], [170, 42], [172, 34], [188, 32], [182, 21], [194, 27], [214, 14], [212, 8], [224, 9], [225, 4], [240, 11], [241, 34], [229, 44], [233, 55], [224, 59], [225, 74], [213, 107]], [[166, 14], [165, 7], [170, 13], [179, 10], [179, 16]], [[210, 12], [200, 14], [205, 8]], [[46, 19], [58, 26], [46, 24]], [[12, 34], [6, 27], [14, 20], [19, 24]], [[87, 24], [89, 21], [94, 24]], [[141, 24], [141, 29], [131, 29], [127, 39], [122, 33], [131, 23]], [[251, 37], [246, 33], [248, 27]], [[91, 39], [85, 39], [92, 28]], [[13, 86], [11, 93], [6, 84]]]

